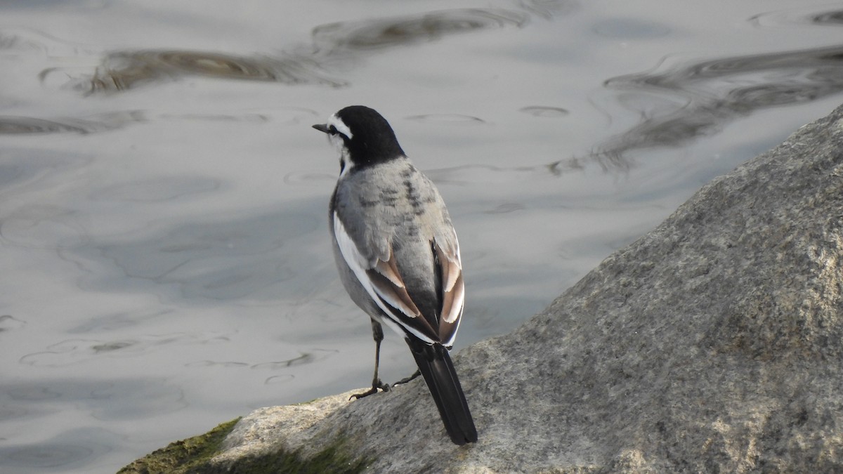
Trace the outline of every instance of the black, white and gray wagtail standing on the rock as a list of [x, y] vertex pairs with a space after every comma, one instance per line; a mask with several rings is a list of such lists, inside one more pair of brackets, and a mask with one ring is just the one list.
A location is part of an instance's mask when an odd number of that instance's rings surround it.
[[314, 125], [340, 150], [340, 178], [330, 198], [334, 259], [346, 291], [372, 318], [372, 388], [378, 377], [381, 324], [404, 337], [456, 444], [477, 430], [448, 351], [463, 314], [459, 244], [448, 209], [433, 183], [411, 164], [389, 123], [352, 105]]

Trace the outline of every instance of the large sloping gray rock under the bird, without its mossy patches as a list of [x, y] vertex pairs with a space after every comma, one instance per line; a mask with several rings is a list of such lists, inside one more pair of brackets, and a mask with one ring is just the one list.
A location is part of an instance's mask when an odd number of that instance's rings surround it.
[[258, 410], [214, 466], [344, 439], [376, 472], [843, 471], [843, 107], [455, 364], [477, 444], [416, 380]]

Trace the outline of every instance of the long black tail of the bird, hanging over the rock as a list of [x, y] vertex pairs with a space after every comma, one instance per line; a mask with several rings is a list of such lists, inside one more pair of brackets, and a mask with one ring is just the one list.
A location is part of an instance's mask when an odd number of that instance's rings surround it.
[[465, 401], [463, 388], [459, 385], [454, 364], [448, 356], [448, 349], [439, 344], [428, 346], [421, 341], [406, 340], [416, 358], [424, 381], [448, 435], [455, 444], [474, 443], [477, 441], [477, 428], [471, 419], [469, 405]]

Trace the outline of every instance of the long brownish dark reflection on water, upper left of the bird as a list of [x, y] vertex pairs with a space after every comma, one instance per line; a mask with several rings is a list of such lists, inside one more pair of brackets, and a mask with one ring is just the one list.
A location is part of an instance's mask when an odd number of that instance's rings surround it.
[[244, 57], [212, 51], [171, 50], [112, 52], [97, 68], [94, 77], [80, 82], [78, 88], [89, 89], [89, 92], [125, 90], [142, 83], [187, 76], [343, 85], [320, 73], [319, 66], [305, 57]]

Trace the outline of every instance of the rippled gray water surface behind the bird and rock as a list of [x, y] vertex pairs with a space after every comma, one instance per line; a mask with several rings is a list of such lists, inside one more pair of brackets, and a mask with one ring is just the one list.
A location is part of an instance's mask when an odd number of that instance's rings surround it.
[[[457, 349], [843, 101], [843, 8], [110, 0], [0, 5], [0, 472], [110, 472], [366, 385], [330, 256], [371, 105], [464, 249]], [[409, 374], [388, 336], [385, 380]]]

